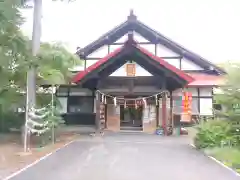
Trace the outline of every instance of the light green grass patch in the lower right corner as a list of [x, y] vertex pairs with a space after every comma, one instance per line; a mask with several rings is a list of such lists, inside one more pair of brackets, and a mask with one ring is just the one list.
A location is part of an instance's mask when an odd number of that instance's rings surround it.
[[240, 149], [224, 147], [206, 149], [205, 152], [240, 173]]

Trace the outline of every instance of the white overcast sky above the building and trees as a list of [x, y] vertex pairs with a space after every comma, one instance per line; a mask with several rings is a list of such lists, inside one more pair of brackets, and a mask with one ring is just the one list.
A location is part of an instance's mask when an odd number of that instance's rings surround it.
[[[42, 41], [74, 52], [126, 20], [130, 9], [158, 32], [212, 62], [240, 60], [239, 0], [43, 0]], [[31, 35], [32, 10], [23, 31]]]

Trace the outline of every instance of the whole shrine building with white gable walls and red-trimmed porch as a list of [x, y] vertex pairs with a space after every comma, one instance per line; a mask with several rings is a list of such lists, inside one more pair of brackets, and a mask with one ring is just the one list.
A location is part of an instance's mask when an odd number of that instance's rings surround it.
[[225, 74], [142, 23], [133, 11], [77, 55], [83, 70], [56, 92], [66, 124], [101, 123], [110, 131], [151, 133], [212, 116], [213, 88]]

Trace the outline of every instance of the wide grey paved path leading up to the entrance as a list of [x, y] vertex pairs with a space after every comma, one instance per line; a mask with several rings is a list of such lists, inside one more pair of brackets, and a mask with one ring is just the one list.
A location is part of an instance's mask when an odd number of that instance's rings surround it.
[[12, 180], [239, 180], [184, 138], [115, 135], [84, 138]]

